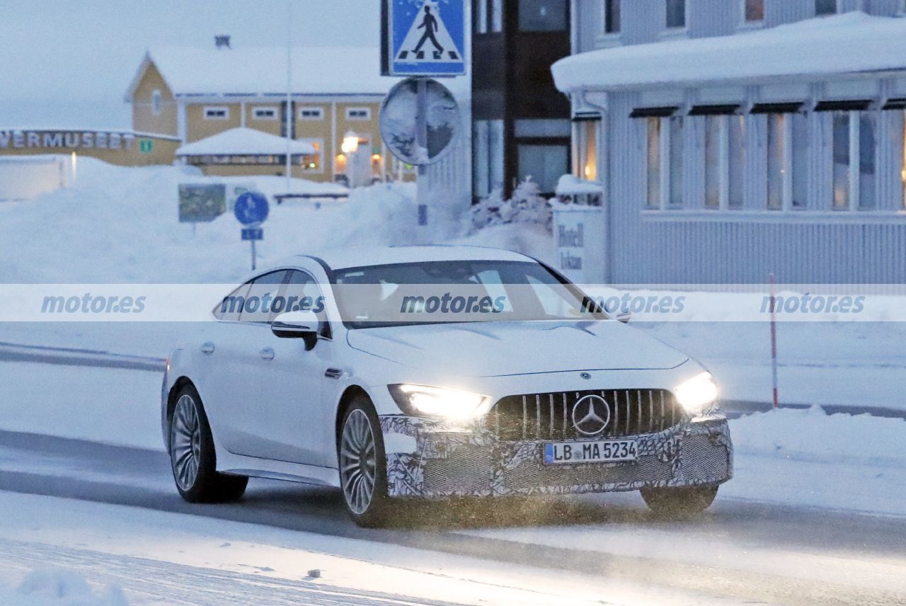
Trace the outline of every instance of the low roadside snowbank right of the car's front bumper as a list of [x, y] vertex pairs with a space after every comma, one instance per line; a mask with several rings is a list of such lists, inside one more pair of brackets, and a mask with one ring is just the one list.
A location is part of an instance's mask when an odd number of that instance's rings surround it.
[[813, 406], [749, 415], [731, 426], [737, 453], [808, 461], [843, 457], [848, 463], [906, 469], [902, 418], [827, 415]]

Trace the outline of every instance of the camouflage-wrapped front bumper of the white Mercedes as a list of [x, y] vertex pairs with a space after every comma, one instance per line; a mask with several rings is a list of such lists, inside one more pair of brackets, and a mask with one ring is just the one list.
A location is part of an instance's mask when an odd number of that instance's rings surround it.
[[500, 441], [477, 422], [452, 427], [404, 415], [380, 419], [390, 496], [602, 493], [716, 486], [733, 476], [733, 445], [722, 415], [637, 436], [636, 461], [558, 466], [544, 464], [544, 441]]

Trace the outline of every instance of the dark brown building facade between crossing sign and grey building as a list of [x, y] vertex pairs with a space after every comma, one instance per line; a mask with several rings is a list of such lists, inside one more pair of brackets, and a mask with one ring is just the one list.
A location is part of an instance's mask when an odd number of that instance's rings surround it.
[[570, 2], [473, 0], [472, 23], [473, 198], [529, 176], [553, 194], [570, 171], [570, 105], [549, 68], [570, 53]]

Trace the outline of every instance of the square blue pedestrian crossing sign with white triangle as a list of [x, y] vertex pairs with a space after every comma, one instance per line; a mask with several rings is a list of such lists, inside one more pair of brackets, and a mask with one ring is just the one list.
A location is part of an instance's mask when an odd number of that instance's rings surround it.
[[384, 0], [385, 76], [466, 74], [466, 0]]

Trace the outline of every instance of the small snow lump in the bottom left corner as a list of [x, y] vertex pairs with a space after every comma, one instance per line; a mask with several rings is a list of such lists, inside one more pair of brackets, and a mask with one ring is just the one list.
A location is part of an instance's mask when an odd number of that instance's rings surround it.
[[117, 585], [100, 594], [92, 592], [81, 576], [73, 572], [46, 569], [30, 572], [16, 591], [0, 587], [4, 606], [126, 606]]

